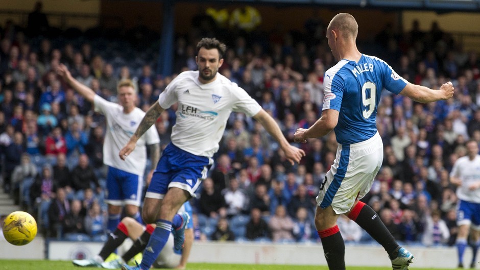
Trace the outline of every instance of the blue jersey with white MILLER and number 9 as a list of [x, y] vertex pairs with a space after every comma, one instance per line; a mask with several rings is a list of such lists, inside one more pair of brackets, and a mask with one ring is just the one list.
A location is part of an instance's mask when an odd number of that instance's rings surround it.
[[340, 144], [365, 141], [377, 132], [377, 106], [383, 88], [398, 94], [407, 82], [386, 62], [362, 55], [341, 60], [325, 72], [323, 110], [339, 111], [335, 135]]

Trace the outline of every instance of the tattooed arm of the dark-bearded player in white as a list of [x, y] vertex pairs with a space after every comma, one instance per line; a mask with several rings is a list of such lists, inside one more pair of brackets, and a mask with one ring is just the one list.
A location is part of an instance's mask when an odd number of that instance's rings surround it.
[[143, 119], [141, 119], [141, 122], [138, 125], [135, 133], [132, 135], [132, 137], [130, 137], [130, 140], [127, 142], [124, 148], [118, 153], [122, 160], [125, 160], [125, 158], [132, 153], [132, 151], [135, 149], [137, 140], [155, 123], [163, 111], [164, 109], [160, 107], [158, 102], [155, 102], [155, 104], [150, 107], [145, 116], [143, 116]]

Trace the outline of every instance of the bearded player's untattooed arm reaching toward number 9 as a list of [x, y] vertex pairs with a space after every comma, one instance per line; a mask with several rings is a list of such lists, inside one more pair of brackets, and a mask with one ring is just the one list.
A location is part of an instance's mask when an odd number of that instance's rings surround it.
[[292, 163], [299, 163], [302, 157], [305, 156], [305, 152], [290, 143], [283, 136], [280, 127], [277, 122], [270, 116], [265, 110], [261, 109], [253, 118], [260, 122], [260, 124], [267, 130], [270, 135], [280, 144], [280, 148], [285, 152], [285, 157]]

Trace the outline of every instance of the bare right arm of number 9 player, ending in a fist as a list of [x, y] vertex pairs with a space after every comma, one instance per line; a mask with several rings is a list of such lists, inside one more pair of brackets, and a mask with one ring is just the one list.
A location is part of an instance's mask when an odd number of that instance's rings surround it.
[[453, 85], [451, 82], [444, 83], [439, 90], [434, 90], [425, 86], [407, 83], [400, 94], [420, 103], [448, 100], [453, 96]]

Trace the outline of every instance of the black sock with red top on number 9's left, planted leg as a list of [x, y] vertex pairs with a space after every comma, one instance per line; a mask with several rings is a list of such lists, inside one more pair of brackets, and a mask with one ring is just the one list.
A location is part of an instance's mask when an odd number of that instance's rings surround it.
[[335, 225], [330, 229], [318, 231], [318, 236], [322, 240], [328, 269], [345, 270], [345, 242], [340, 234], [339, 227]]

